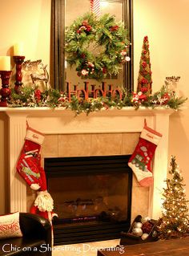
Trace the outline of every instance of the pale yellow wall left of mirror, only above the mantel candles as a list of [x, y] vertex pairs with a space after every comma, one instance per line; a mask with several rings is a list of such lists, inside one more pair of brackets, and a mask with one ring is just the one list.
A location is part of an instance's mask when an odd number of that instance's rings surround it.
[[50, 63], [50, 0], [2, 1], [0, 14], [0, 55], [12, 56], [14, 43], [23, 42], [26, 59]]

